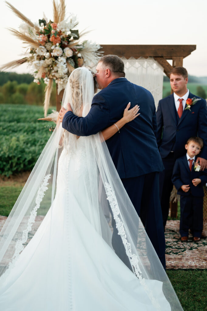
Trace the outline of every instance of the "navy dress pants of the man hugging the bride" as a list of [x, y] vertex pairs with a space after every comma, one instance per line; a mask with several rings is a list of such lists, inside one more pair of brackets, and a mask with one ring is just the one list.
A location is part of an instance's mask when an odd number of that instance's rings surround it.
[[159, 172], [121, 181], [165, 269], [165, 235], [159, 199]]

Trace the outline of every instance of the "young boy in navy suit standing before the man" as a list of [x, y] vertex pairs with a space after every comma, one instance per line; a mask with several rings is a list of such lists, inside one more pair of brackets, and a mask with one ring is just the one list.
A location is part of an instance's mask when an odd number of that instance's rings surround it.
[[207, 169], [201, 171], [200, 165], [195, 163], [202, 147], [203, 140], [200, 137], [189, 138], [185, 145], [187, 154], [176, 160], [172, 173], [172, 183], [177, 189], [177, 194], [181, 196], [182, 242], [187, 242], [190, 228], [195, 242], [200, 241], [203, 230], [203, 185], [207, 182]]

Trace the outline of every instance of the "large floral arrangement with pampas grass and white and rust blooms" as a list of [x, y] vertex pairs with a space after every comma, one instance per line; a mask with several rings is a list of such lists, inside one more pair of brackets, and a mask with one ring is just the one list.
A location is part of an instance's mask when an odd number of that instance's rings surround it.
[[44, 113], [47, 114], [53, 80], [60, 93], [67, 84], [70, 73], [77, 67], [90, 66], [96, 63], [102, 52], [98, 52], [100, 45], [85, 40], [80, 41], [88, 32], [79, 33], [77, 17], [71, 14], [65, 16], [65, 1], [59, 4], [53, 0], [53, 21], [46, 17], [32, 23], [26, 16], [7, 2], [7, 6], [21, 18], [23, 23], [19, 30], [9, 28], [12, 35], [26, 44], [24, 58], [9, 62], [0, 67], [1, 70], [17, 67], [28, 63], [33, 69], [34, 82], [44, 81], [45, 101]]

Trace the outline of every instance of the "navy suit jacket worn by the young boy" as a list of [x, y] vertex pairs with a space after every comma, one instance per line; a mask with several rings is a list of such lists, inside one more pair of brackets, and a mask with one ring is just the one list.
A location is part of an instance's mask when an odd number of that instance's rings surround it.
[[[201, 183], [199, 183], [196, 187], [192, 183], [192, 180], [194, 178], [201, 179]], [[189, 196], [191, 194], [194, 197], [203, 197], [203, 186], [205, 185], [205, 183], [207, 183], [207, 169], [205, 169], [204, 171], [195, 172], [193, 165], [192, 170], [190, 171], [186, 155], [182, 156], [175, 161], [172, 173], [172, 183], [177, 189], [177, 194], [183, 196]], [[190, 189], [188, 190], [188, 192], [184, 192], [181, 189], [182, 185], [190, 185]]]

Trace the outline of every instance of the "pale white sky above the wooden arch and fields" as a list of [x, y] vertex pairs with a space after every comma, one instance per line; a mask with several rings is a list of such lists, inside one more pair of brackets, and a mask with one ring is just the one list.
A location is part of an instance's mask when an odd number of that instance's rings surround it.
[[[52, 0], [10, 0], [32, 22], [53, 19]], [[183, 66], [194, 76], [207, 76], [207, 1], [105, 0], [66, 1], [68, 13], [78, 16], [79, 31], [92, 30], [84, 39], [99, 44], [196, 44]], [[23, 57], [22, 42], [7, 27], [18, 29], [21, 20], [0, 0], [0, 64]], [[29, 72], [26, 65], [13, 71]]]

